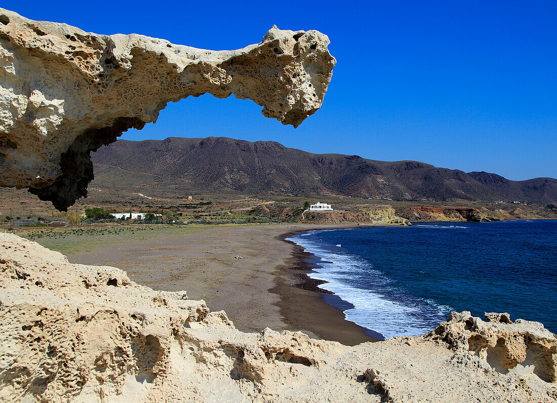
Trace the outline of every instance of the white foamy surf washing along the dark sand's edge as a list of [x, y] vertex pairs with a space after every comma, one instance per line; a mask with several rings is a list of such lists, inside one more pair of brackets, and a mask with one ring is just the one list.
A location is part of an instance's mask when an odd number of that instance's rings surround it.
[[[435, 324], [445, 320], [450, 311], [449, 307], [440, 306], [431, 300], [389, 299], [381, 292], [382, 286], [387, 287], [389, 279], [375, 270], [365, 259], [330, 250], [326, 245], [323, 246], [311, 238], [302, 238], [300, 235], [295, 235], [289, 240], [322, 259], [319, 263], [321, 267], [314, 269], [308, 276], [326, 281], [321, 288], [354, 305], [353, 309], [344, 311], [346, 320], [381, 333], [384, 337], [423, 335], [431, 331]], [[358, 278], [370, 275], [374, 278], [373, 284], [376, 289], [358, 287]]]

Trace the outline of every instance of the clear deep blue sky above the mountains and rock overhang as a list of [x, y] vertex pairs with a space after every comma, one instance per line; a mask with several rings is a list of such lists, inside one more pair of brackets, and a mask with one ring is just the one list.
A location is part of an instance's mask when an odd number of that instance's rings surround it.
[[297, 129], [251, 101], [169, 104], [124, 139], [227, 136], [314, 153], [557, 178], [557, 2], [4, 1], [31, 19], [237, 49], [281, 29], [329, 36], [323, 107]]

